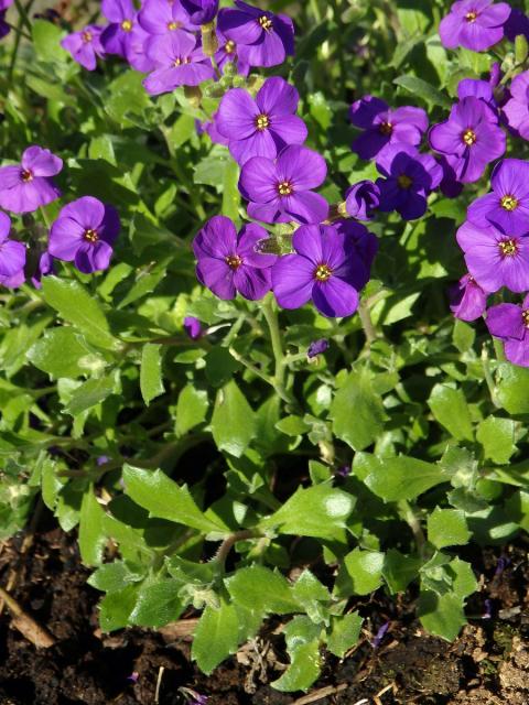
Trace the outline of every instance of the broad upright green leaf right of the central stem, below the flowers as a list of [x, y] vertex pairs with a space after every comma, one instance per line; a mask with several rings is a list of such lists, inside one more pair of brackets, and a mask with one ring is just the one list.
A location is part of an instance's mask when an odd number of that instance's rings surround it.
[[387, 415], [367, 370], [349, 373], [336, 392], [330, 417], [334, 434], [354, 451], [367, 448], [380, 436]]

